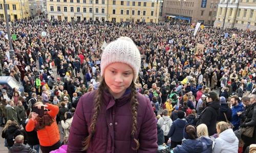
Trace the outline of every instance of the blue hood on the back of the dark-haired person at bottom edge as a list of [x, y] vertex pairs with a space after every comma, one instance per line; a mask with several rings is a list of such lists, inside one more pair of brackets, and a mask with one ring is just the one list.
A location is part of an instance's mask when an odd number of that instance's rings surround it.
[[187, 152], [190, 152], [190, 153], [202, 152], [203, 150], [203, 143], [200, 139], [185, 140], [183, 141], [182, 146]]

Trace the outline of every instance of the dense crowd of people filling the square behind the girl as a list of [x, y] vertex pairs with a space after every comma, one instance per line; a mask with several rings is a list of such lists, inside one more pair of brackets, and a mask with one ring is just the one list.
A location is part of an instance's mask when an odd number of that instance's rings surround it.
[[[76, 128], [73, 116], [79, 116], [74, 113], [84, 107], [80, 97], [103, 89], [102, 62], [106, 59], [102, 51], [109, 45], [102, 44], [121, 36], [130, 37], [140, 53], [134, 86], [151, 101], [159, 152], [245, 152], [256, 144], [255, 31], [205, 27], [193, 36], [190, 25], [108, 21], [92, 25], [41, 16], [11, 23], [11, 33], [17, 35], [12, 40], [13, 59], [8, 57], [3, 22], [0, 31], [0, 75], [13, 77], [24, 87], [20, 93], [1, 86], [0, 124], [10, 151], [68, 149], [71, 125]], [[198, 44], [204, 44], [201, 53]], [[118, 54], [112, 53], [113, 57]], [[136, 106], [133, 97], [131, 101]], [[35, 113], [36, 108], [44, 108], [44, 114]], [[133, 117], [136, 114], [132, 112]], [[151, 124], [154, 129], [155, 123]], [[95, 124], [87, 126], [91, 131], [96, 128]], [[140, 144], [135, 129], [132, 137]], [[97, 143], [90, 146], [93, 134], [89, 136], [85, 149], [91, 150]]]

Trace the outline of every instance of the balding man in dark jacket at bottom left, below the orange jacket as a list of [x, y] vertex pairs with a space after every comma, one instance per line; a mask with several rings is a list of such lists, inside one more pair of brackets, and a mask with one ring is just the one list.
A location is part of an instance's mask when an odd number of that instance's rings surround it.
[[15, 143], [9, 149], [9, 153], [37, 153], [35, 149], [32, 149], [29, 145], [24, 144], [24, 136], [18, 135], [15, 137]]

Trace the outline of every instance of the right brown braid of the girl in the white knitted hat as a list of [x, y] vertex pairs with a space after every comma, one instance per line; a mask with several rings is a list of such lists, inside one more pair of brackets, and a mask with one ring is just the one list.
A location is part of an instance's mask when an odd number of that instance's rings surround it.
[[138, 108], [138, 105], [139, 105], [139, 102], [137, 100], [137, 97], [136, 97], [136, 94], [137, 94], [137, 91], [136, 91], [136, 87], [135, 87], [135, 83], [132, 82], [131, 84], [131, 91], [132, 91], [132, 95], [131, 95], [131, 109], [132, 109], [132, 132], [131, 132], [131, 136], [132, 136], [132, 139], [135, 141], [136, 143], [136, 148], [133, 148], [133, 150], [138, 150], [139, 147], [140, 147], [140, 143], [137, 139], [135, 139], [135, 134], [137, 133], [137, 116], [138, 116], [138, 113], [137, 113], [137, 108]]

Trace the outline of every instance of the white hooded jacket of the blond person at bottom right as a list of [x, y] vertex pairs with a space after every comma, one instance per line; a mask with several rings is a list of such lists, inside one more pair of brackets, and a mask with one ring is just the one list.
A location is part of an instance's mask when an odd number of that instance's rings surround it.
[[237, 153], [238, 138], [234, 135], [232, 129], [223, 131], [217, 139], [215, 139], [212, 153]]

